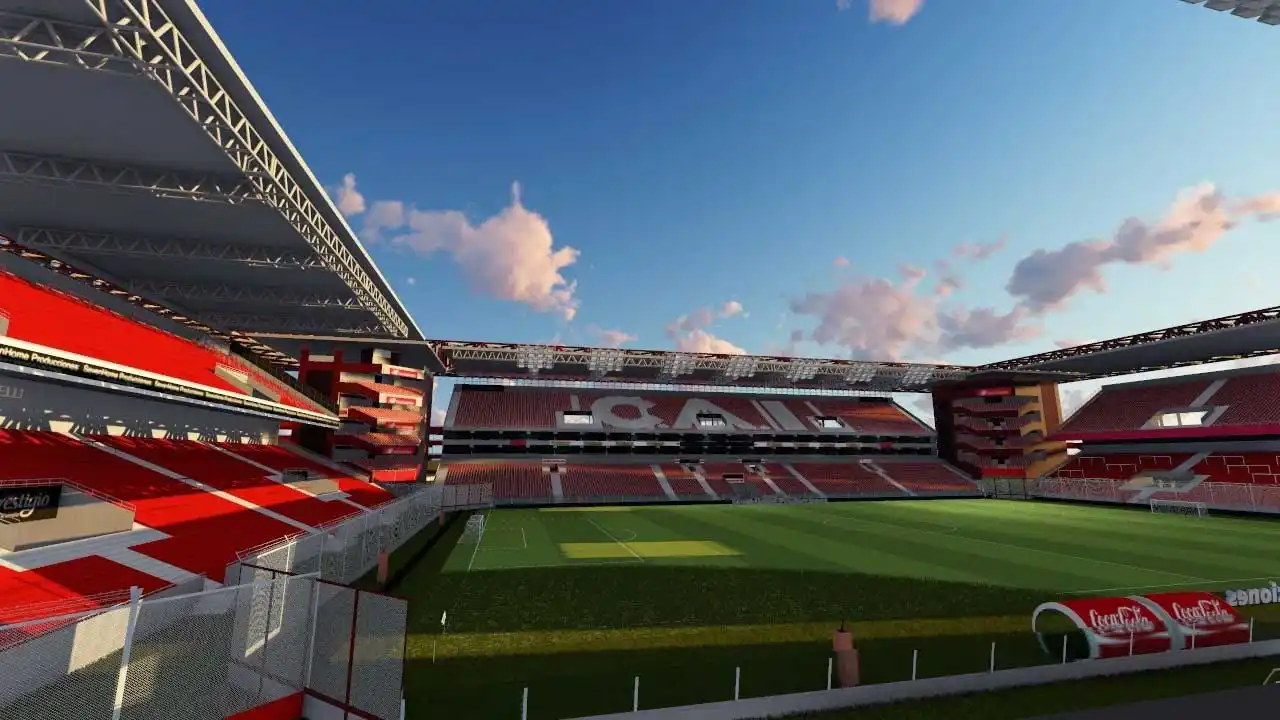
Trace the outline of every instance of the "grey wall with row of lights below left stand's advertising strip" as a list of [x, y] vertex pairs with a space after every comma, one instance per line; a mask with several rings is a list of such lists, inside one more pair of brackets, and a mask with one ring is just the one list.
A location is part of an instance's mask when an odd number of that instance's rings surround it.
[[0, 373], [0, 428], [271, 443], [279, 421]]

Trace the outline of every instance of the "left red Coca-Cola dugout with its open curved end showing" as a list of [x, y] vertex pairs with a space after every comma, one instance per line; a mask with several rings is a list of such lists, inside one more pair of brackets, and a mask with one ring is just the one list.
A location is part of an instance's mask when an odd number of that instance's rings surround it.
[[[1056, 632], [1069, 621], [1071, 635]], [[1129, 597], [1082, 597], [1046, 602], [1036, 609], [1032, 628], [1051, 653], [1062, 651], [1068, 660], [1124, 657], [1167, 652], [1172, 648], [1169, 625], [1147, 605]], [[1056, 647], [1055, 647], [1056, 646]]]

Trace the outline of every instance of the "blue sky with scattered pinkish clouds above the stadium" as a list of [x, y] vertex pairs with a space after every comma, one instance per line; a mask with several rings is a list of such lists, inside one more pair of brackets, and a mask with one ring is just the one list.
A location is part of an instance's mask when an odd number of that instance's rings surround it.
[[202, 6], [431, 338], [980, 364], [1280, 305], [1280, 29], [1202, 6]]

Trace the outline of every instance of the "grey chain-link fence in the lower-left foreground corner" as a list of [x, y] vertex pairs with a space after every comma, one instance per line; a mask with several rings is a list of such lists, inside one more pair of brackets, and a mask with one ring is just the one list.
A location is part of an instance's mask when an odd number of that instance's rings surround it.
[[[239, 569], [247, 583], [28, 624], [0, 652], [0, 717], [223, 720], [314, 689], [399, 717], [407, 603]], [[10, 628], [0, 632], [13, 633]]]

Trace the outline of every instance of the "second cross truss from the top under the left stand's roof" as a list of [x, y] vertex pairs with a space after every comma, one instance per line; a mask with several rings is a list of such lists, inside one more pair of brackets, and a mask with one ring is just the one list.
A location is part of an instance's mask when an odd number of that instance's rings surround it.
[[6, 150], [0, 150], [0, 181], [91, 187], [127, 195], [230, 205], [262, 200], [255, 183], [242, 177], [186, 173]]

